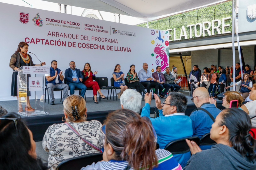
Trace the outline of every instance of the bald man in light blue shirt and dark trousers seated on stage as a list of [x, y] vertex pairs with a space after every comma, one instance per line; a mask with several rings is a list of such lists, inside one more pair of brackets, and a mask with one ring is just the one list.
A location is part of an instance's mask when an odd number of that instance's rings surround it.
[[152, 77], [150, 71], [148, 70], [147, 63], [144, 62], [142, 67], [143, 69], [139, 71], [139, 79], [141, 84], [147, 89], [148, 93], [150, 92], [150, 88], [154, 88], [155, 94], [157, 94], [160, 83], [155, 82], [156, 79]]

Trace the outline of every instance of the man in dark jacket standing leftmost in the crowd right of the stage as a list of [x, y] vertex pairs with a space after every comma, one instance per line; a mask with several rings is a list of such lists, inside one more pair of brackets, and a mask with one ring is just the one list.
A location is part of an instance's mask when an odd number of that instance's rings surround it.
[[200, 76], [201, 76], [201, 70], [198, 69], [198, 65], [193, 66], [193, 70], [190, 71], [188, 76], [188, 83], [190, 84], [191, 94], [193, 95], [193, 92], [196, 88], [199, 87], [200, 84]]

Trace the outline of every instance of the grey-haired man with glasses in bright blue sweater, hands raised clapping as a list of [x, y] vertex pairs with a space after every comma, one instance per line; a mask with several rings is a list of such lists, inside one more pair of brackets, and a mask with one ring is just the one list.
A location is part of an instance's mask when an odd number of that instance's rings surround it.
[[[156, 94], [154, 97], [156, 107], [159, 109], [159, 117], [150, 118], [151, 92], [145, 94], [145, 106], [142, 108], [141, 117], [146, 116], [150, 119], [160, 148], [164, 148], [170, 141], [191, 137], [193, 135], [192, 121], [184, 113], [188, 102], [186, 96], [179, 92], [171, 92], [162, 104]], [[190, 159], [190, 152], [173, 156], [184, 167]]]

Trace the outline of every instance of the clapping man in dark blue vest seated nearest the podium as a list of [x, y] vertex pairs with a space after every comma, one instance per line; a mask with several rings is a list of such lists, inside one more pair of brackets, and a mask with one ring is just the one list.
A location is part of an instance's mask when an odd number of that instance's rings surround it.
[[54, 105], [53, 90], [56, 88], [63, 89], [62, 103], [68, 97], [68, 85], [62, 83], [62, 81], [64, 80], [64, 77], [62, 75], [62, 71], [57, 68], [57, 65], [58, 65], [58, 62], [56, 60], [52, 60], [51, 67], [50, 67], [50, 74], [45, 74], [46, 87], [48, 88], [48, 92], [49, 92], [48, 100], [50, 100], [51, 105]]

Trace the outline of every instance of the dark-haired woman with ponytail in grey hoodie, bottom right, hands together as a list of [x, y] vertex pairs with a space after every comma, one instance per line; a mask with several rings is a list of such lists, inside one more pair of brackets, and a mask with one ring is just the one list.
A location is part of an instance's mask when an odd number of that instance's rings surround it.
[[229, 108], [219, 113], [212, 124], [210, 138], [217, 144], [202, 151], [186, 140], [192, 156], [184, 170], [255, 170], [256, 140], [249, 133], [250, 117], [241, 109]]

